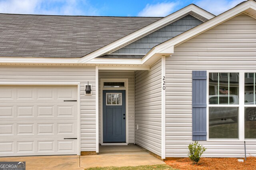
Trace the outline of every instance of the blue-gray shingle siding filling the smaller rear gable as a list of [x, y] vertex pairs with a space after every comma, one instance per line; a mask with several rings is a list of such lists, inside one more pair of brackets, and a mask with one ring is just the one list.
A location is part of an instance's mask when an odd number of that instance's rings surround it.
[[146, 54], [154, 46], [184, 33], [201, 23], [203, 22], [188, 14], [187, 16], [162, 27], [145, 37], [114, 51], [112, 54]]

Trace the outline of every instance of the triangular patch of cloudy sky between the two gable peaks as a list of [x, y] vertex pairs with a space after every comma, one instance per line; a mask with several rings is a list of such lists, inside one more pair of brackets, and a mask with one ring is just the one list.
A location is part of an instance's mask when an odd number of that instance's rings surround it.
[[195, 2], [195, 4], [214, 15], [218, 15], [243, 1], [244, 0], [199, 0]]

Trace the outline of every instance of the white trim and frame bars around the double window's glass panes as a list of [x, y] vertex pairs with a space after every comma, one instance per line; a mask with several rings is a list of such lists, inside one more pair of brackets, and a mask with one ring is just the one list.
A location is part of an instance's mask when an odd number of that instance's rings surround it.
[[[238, 113], [238, 137], [239, 139], [209, 139], [209, 73], [210, 72], [238, 72], [239, 73], [239, 105], [210, 105], [210, 107], [239, 107]], [[207, 82], [206, 82], [206, 141], [256, 141], [256, 139], [244, 139], [244, 73], [256, 72], [256, 70], [207, 70]], [[249, 107], [256, 107], [256, 105], [250, 105]]]

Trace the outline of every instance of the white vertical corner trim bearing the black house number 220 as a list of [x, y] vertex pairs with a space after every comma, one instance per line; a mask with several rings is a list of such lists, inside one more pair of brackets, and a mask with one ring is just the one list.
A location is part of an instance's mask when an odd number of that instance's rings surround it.
[[162, 159], [165, 159], [165, 90], [166, 90], [166, 77], [165, 77], [165, 56], [162, 56]]

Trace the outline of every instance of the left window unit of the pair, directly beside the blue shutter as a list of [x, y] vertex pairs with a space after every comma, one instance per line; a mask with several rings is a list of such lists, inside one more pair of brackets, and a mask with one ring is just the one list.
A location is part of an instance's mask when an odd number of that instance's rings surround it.
[[209, 73], [209, 139], [238, 139], [239, 73]]

